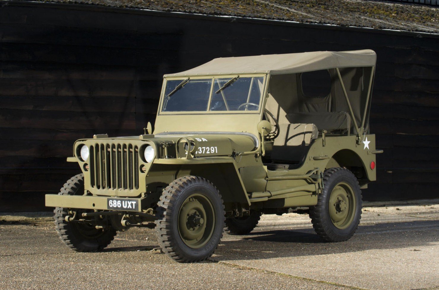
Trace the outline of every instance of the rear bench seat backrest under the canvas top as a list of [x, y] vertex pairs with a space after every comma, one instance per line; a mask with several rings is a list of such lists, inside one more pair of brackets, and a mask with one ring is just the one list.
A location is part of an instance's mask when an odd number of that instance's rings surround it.
[[291, 123], [313, 123], [319, 130], [345, 131], [351, 127], [351, 116], [347, 112], [288, 113], [286, 117]]

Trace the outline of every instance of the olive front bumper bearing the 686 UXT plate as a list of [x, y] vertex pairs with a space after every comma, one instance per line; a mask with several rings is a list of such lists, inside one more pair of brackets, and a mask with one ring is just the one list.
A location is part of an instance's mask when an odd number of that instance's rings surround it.
[[[110, 207], [109, 200], [120, 200], [122, 207], [117, 209]], [[126, 202], [124, 203], [123, 201]], [[134, 206], [134, 202], [137, 203], [136, 206]], [[126, 205], [126, 207], [123, 207], [123, 205]], [[141, 198], [114, 198], [108, 196], [61, 196], [58, 194], [46, 194], [46, 207], [81, 208], [88, 210], [122, 210], [135, 212], [140, 212], [143, 208]]]

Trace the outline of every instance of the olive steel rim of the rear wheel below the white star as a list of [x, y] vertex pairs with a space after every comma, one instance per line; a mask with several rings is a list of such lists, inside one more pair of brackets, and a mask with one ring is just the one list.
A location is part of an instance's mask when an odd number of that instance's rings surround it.
[[356, 198], [353, 188], [346, 182], [339, 182], [332, 189], [329, 197], [329, 216], [332, 224], [339, 229], [351, 225], [356, 209]]

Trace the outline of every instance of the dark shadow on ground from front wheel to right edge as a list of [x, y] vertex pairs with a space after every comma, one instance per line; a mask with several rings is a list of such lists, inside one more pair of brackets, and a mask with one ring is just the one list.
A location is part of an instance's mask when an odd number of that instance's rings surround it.
[[[439, 241], [439, 221], [393, 222], [360, 226], [345, 242], [327, 243], [312, 228], [266, 230], [247, 236], [225, 235], [217, 261], [352, 253], [424, 246]], [[237, 239], [233, 239], [237, 238]]]

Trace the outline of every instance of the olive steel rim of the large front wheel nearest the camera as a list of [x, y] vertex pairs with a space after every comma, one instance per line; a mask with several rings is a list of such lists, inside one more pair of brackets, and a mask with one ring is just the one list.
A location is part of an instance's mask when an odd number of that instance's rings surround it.
[[199, 249], [209, 243], [215, 229], [215, 209], [201, 193], [188, 196], [178, 213], [178, 232], [186, 246]]

